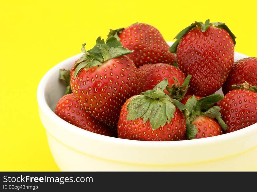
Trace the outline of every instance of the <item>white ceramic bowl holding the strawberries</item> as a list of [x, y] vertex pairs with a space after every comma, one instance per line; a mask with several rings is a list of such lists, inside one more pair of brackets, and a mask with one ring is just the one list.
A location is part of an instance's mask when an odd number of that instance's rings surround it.
[[[37, 90], [40, 119], [60, 170], [257, 171], [257, 123], [203, 139], [153, 142], [103, 136], [62, 120], [53, 112], [65, 90], [65, 84], [58, 79], [59, 69], [70, 69], [80, 56], [54, 66]], [[235, 53], [235, 60], [245, 57]]]

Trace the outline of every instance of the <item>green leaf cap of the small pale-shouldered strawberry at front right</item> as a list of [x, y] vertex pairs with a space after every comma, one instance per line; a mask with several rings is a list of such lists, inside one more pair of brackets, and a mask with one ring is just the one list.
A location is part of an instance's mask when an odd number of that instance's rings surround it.
[[185, 105], [176, 99], [172, 99], [172, 102], [184, 113], [186, 118], [185, 135], [188, 139], [194, 139], [197, 134], [196, 125], [192, 124], [192, 122], [198, 116], [205, 115], [213, 119], [215, 118], [223, 130], [227, 129], [228, 126], [221, 118], [220, 107], [213, 106], [216, 102], [223, 98], [224, 97], [220, 94], [212, 94], [197, 100], [196, 96], [193, 95], [187, 100]]

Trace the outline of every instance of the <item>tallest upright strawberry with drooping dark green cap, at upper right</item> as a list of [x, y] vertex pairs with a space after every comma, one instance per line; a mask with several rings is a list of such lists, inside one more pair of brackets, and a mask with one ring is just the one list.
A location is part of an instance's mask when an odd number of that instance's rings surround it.
[[191, 74], [190, 87], [199, 96], [213, 94], [223, 85], [234, 63], [235, 35], [225, 23], [192, 23], [176, 37], [169, 51], [178, 67]]

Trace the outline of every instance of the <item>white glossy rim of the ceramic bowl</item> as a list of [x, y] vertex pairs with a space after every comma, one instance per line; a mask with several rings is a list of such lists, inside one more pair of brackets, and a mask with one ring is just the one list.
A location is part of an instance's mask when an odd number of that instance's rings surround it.
[[[172, 43], [172, 42], [168, 42]], [[45, 97], [45, 90], [47, 86], [48, 80], [52, 77], [53, 73], [55, 73], [57, 70], [62, 68], [61, 66], [64, 63], [74, 61], [75, 59], [79, 58], [83, 53], [79, 53], [75, 56], [72, 56], [70, 58], [67, 58], [66, 60], [63, 60], [62, 62], [58, 63], [55, 65], [53, 68], [48, 70], [46, 74], [42, 77], [42, 79], [39, 82], [38, 88], [37, 88], [37, 102], [39, 105], [39, 108], [50, 118], [52, 121], [56, 122], [57, 124], [60, 124], [60, 126], [64, 129], [67, 129], [69, 132], [73, 132], [74, 134], [79, 134], [83, 137], [90, 137], [93, 140], [101, 140], [104, 142], [108, 143], [113, 143], [113, 144], [119, 144], [119, 145], [130, 145], [130, 146], [140, 146], [140, 147], [185, 147], [190, 144], [190, 146], [199, 146], [202, 144], [206, 143], [216, 143], [216, 142], [222, 142], [222, 141], [228, 141], [228, 140], [233, 140], [235, 138], [242, 137], [244, 135], [248, 135], [251, 133], [254, 129], [256, 129], [256, 125], [252, 124], [248, 127], [245, 127], [243, 129], [239, 129], [235, 132], [230, 132], [218, 136], [213, 136], [213, 137], [206, 137], [206, 138], [201, 138], [201, 139], [192, 139], [192, 140], [181, 140], [181, 141], [137, 141], [137, 140], [129, 140], [129, 139], [121, 139], [121, 138], [116, 138], [116, 137], [110, 137], [110, 136], [105, 136], [101, 134], [96, 134], [84, 129], [74, 129], [74, 125], [66, 122], [65, 120], [62, 120], [60, 117], [58, 117], [50, 108], [50, 106], [46, 102], [46, 97]], [[235, 54], [243, 57], [249, 57], [246, 56], [242, 53], [235, 52]], [[77, 127], [76, 127], [77, 128]]]

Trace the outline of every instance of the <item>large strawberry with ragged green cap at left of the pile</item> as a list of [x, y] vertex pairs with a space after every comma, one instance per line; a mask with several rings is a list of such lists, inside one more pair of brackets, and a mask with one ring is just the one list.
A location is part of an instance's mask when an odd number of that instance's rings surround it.
[[136, 66], [125, 56], [132, 53], [115, 37], [98, 37], [93, 49], [81, 49], [85, 54], [73, 66], [71, 89], [86, 112], [96, 119], [116, 127], [125, 101], [138, 93]]

